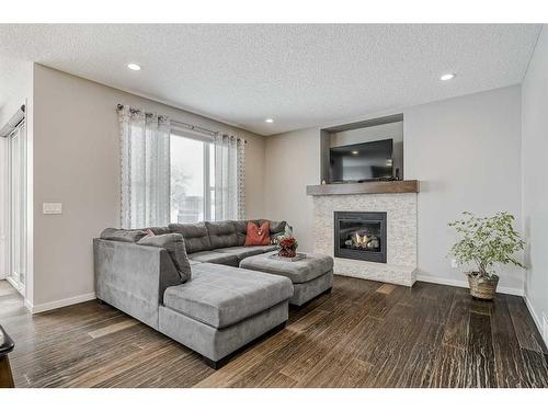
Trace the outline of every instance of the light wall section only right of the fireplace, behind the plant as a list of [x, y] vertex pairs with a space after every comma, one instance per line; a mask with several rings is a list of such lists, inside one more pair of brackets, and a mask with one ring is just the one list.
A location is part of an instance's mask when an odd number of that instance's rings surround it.
[[[419, 276], [464, 279], [446, 259], [455, 238], [447, 221], [504, 210], [522, 230], [520, 87], [410, 107], [403, 124], [406, 178], [421, 182]], [[501, 289], [523, 289], [522, 270], [499, 274]]]

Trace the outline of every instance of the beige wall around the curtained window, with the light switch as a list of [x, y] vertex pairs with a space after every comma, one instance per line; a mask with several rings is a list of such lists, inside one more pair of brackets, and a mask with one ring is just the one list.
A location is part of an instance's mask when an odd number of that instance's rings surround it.
[[[119, 225], [117, 103], [247, 138], [246, 206], [249, 217], [262, 216], [263, 137], [36, 65], [35, 309], [75, 302], [93, 293], [92, 238], [105, 227]], [[43, 215], [44, 202], [62, 203], [62, 215]]]

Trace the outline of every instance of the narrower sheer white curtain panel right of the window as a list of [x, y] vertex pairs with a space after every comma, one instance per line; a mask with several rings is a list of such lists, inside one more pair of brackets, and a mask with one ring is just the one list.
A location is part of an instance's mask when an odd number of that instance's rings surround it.
[[246, 218], [246, 141], [218, 133], [214, 137], [215, 220]]

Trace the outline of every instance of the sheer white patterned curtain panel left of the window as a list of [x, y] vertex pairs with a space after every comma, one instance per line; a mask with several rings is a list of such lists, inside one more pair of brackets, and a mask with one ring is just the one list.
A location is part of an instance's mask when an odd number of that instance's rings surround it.
[[123, 228], [170, 221], [170, 121], [118, 105]]

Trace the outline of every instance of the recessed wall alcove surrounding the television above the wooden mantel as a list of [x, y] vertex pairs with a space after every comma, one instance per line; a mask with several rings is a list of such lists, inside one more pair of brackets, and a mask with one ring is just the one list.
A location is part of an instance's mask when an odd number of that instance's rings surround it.
[[356, 123], [329, 127], [321, 130], [321, 181], [333, 182], [330, 168], [330, 150], [332, 148], [356, 144], [393, 140], [392, 176], [403, 180], [403, 114], [372, 118]]

